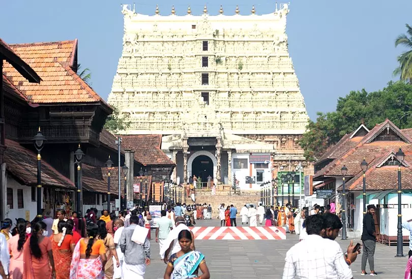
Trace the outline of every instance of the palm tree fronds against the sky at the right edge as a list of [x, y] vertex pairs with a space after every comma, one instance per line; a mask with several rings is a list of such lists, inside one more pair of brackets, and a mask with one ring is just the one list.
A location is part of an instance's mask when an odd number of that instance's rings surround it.
[[395, 47], [402, 45], [410, 50], [402, 52], [402, 54], [398, 56], [399, 67], [393, 71], [393, 75], [399, 75], [400, 80], [408, 81], [409, 84], [412, 84], [412, 27], [406, 24], [406, 29], [409, 38], [405, 34], [400, 34], [395, 40]]

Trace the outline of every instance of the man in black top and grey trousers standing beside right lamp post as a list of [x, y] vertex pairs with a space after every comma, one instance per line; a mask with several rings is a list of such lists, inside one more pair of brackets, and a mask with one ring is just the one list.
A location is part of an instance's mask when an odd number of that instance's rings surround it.
[[375, 233], [375, 220], [373, 216], [375, 215], [376, 207], [373, 204], [368, 205], [368, 212], [363, 217], [363, 230], [362, 230], [362, 245], [363, 245], [363, 255], [362, 255], [362, 273], [366, 274], [366, 261], [369, 261], [370, 275], [375, 276], [375, 262], [373, 256], [375, 254], [376, 247], [376, 233]]

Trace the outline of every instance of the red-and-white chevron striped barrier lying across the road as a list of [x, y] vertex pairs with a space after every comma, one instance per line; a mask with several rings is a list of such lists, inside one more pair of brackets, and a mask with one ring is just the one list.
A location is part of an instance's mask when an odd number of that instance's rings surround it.
[[195, 239], [279, 240], [286, 239], [283, 227], [191, 227]]

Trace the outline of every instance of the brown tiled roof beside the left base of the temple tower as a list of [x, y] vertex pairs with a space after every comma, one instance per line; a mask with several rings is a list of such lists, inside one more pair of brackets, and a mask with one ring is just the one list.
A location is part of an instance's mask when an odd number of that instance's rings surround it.
[[134, 150], [134, 158], [143, 165], [174, 165], [160, 149], [162, 135], [122, 135], [123, 143]]

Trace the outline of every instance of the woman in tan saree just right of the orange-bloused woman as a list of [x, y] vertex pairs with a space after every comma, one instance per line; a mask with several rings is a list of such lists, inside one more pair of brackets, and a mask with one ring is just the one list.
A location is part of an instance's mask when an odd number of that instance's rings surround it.
[[114, 239], [111, 234], [107, 233], [106, 222], [103, 220], [97, 221], [98, 226], [98, 238], [103, 240], [106, 249], [107, 262], [104, 265], [104, 277], [106, 279], [112, 279], [114, 274], [113, 257], [116, 260], [116, 266], [120, 266], [119, 258], [117, 257], [116, 247], [114, 246]]

